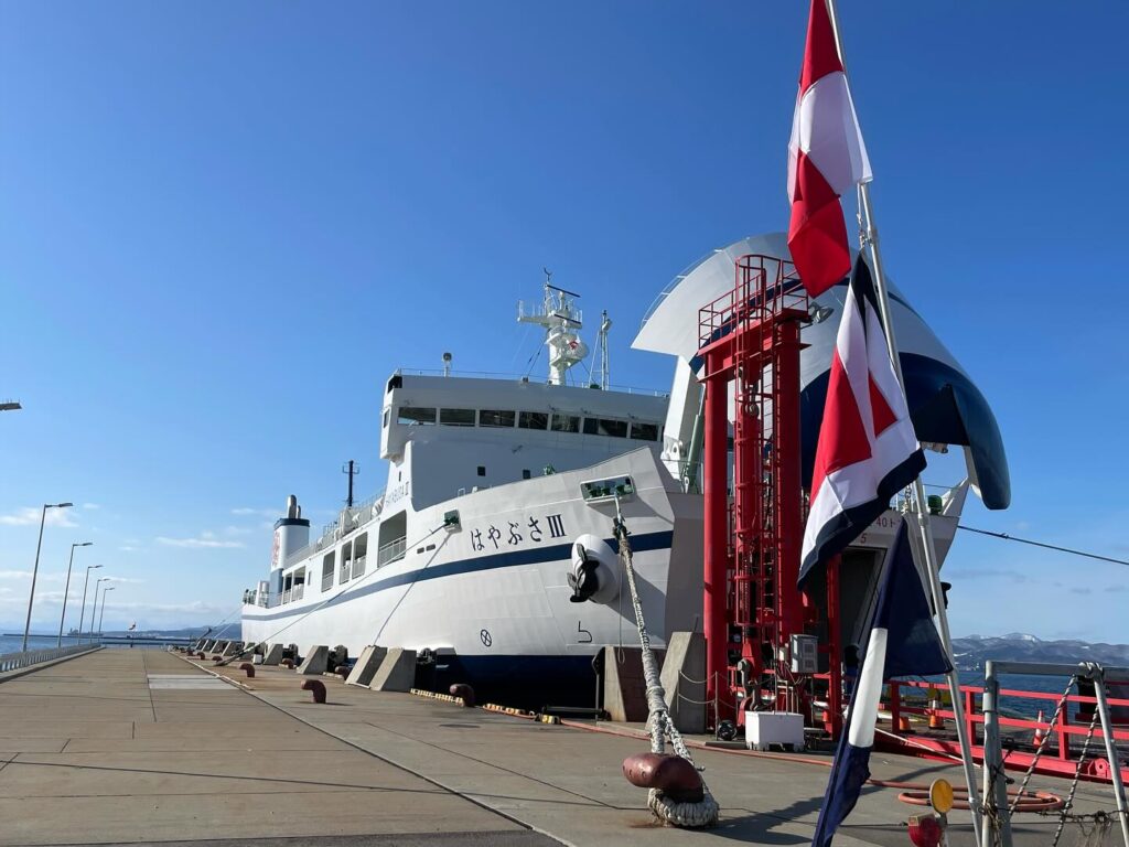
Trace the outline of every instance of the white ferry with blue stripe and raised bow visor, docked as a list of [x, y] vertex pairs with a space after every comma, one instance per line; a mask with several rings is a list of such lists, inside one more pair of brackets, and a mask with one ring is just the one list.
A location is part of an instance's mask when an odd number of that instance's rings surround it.
[[[612, 390], [604, 315], [598, 382], [570, 385], [588, 353], [577, 295], [546, 280], [518, 320], [543, 328], [549, 375], [467, 378], [397, 370], [383, 386], [384, 492], [348, 505], [312, 536], [291, 496], [274, 526], [269, 577], [244, 594], [246, 643], [370, 644], [417, 650], [480, 691], [536, 691], [590, 702], [593, 658], [637, 640], [612, 538], [616, 507], [631, 532], [653, 643], [701, 629], [702, 498], [697, 478], [698, 308], [732, 288], [743, 254], [787, 257], [782, 234], [745, 238], [680, 274], [647, 313], [634, 347], [675, 357], [667, 395]], [[812, 305], [802, 357], [805, 471], [822, 413], [844, 287]], [[964, 447], [969, 477], [930, 498], [938, 553], [953, 541], [970, 487], [1006, 506], [1007, 465], [995, 418], [952, 353], [893, 292], [910, 408], [922, 442]], [[844, 644], [856, 641], [899, 515], [879, 517], [843, 560]], [[548, 701], [548, 699], [546, 699]]]

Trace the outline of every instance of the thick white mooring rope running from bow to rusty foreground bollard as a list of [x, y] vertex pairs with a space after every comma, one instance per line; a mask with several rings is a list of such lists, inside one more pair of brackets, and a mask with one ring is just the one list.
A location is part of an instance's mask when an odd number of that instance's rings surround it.
[[[615, 499], [615, 540], [619, 542], [620, 561], [623, 564], [623, 571], [627, 574], [628, 588], [631, 592], [631, 604], [634, 606], [636, 625], [639, 628], [639, 645], [642, 653], [644, 678], [647, 680], [647, 710], [649, 713], [647, 724], [650, 727], [650, 751], [653, 753], [666, 752], [666, 736], [671, 737], [671, 746], [680, 757], [694, 763], [693, 757], [682, 741], [682, 734], [671, 719], [669, 708], [666, 705], [666, 692], [663, 690], [658, 662], [655, 660], [655, 652], [650, 647], [650, 636], [647, 635], [647, 625], [642, 617], [642, 604], [639, 602], [639, 592], [636, 588], [634, 568], [631, 565], [631, 543], [628, 541], [628, 527], [623, 523], [620, 514], [620, 501]], [[647, 805], [656, 818], [664, 823], [673, 823], [676, 827], [690, 827], [702, 829], [712, 827], [718, 821], [718, 805], [702, 780], [702, 798], [694, 803], [680, 803], [672, 800], [658, 788], [651, 788], [647, 796]]]

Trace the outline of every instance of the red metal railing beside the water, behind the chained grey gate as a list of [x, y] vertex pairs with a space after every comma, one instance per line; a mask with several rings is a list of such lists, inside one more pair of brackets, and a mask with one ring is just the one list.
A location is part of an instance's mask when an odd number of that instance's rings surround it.
[[[956, 713], [952, 709], [952, 698], [945, 682], [890, 680], [887, 684], [890, 697], [886, 700], [886, 708], [890, 711], [890, 728], [889, 732], [885, 731], [885, 727], [883, 730], [887, 736], [912, 740], [912, 744], [905, 746], [904, 752], [914, 752], [914, 749], [928, 735], [924, 730], [929, 726], [929, 718], [934, 718], [934, 723], [939, 719], [946, 726], [951, 726], [955, 719]], [[1106, 687], [1120, 692], [1124, 690], [1127, 683], [1106, 682]], [[972, 742], [973, 757], [978, 761], [983, 761], [983, 687], [961, 686], [961, 697], [964, 700], [964, 724], [968, 737]], [[1089, 718], [1097, 709], [1097, 698], [1086, 695], [1067, 696], [1058, 718], [1051, 723], [1056, 707], [1062, 699], [1061, 691], [1022, 691], [1000, 688], [999, 701], [1005, 707], [1008, 700], [1012, 700], [1013, 705], [1015, 701], [1019, 701], [1027, 705], [1025, 711], [1035, 711], [1036, 714], [1041, 711], [1044, 717], [1042, 719], [1022, 717], [1021, 710], [1013, 708], [1009, 710], [1010, 714], [1000, 713], [999, 725], [1003, 733], [1025, 742], [1033, 742], [1036, 732], [1049, 733], [1051, 737], [1045, 742], [1044, 753], [1038, 761], [1035, 772], [1071, 777], [1078, 766], [1082, 742], [1089, 733]], [[1106, 702], [1113, 718], [1111, 722], [1113, 742], [1123, 748], [1129, 744], [1129, 717], [1127, 717], [1129, 716], [1129, 697], [1108, 697]], [[909, 728], [902, 728], [907, 722]], [[917, 724], [917, 728], [914, 728], [914, 724]], [[1094, 740], [1091, 748], [1102, 749], [1100, 740], [1104, 737], [1099, 721], [1094, 727]], [[1078, 743], [1074, 743], [1075, 741]], [[947, 752], [960, 754], [960, 748], [955, 746], [955, 742], [949, 746], [954, 749], [947, 750]], [[1031, 743], [1029, 746], [1033, 750], [1034, 744]], [[1032, 752], [1022, 749], [1012, 750], [1007, 757], [1007, 767], [1026, 768], [1031, 762], [1032, 754]], [[1092, 759], [1086, 763], [1088, 767], [1084, 766], [1082, 777], [1109, 781], [1109, 766], [1103, 766], [1102, 762], [1104, 759]], [[1122, 767], [1121, 770], [1124, 779], [1129, 780], [1129, 767]]]

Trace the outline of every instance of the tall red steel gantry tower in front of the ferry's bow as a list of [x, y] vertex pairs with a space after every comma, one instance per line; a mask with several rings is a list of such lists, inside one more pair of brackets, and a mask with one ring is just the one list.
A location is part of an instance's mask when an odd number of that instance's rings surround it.
[[[717, 719], [750, 708], [807, 711], [808, 680], [791, 670], [790, 641], [814, 619], [796, 587], [803, 540], [799, 331], [808, 299], [790, 262], [736, 261], [733, 290], [699, 311], [704, 367], [704, 614], [707, 699]], [[733, 461], [729, 462], [729, 386]], [[729, 505], [732, 468], [733, 505]], [[834, 570], [834, 568], [830, 568]], [[829, 579], [829, 593], [834, 580]], [[838, 600], [838, 599], [835, 599]], [[838, 602], [828, 628], [838, 638]], [[839, 656], [829, 711], [838, 714]]]

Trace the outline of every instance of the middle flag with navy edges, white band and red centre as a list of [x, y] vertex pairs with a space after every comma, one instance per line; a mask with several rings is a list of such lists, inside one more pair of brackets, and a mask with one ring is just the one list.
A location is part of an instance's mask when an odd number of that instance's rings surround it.
[[860, 254], [831, 359], [799, 582], [857, 539], [925, 464]]

